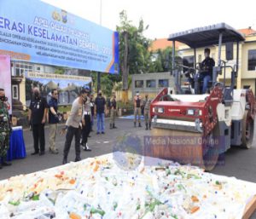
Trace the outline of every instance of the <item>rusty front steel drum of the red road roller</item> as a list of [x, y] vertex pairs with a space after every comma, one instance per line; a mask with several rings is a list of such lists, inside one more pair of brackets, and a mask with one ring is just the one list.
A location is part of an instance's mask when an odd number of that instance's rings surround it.
[[[203, 137], [199, 133], [191, 133], [178, 130], [164, 130], [154, 128], [151, 130], [152, 136], [167, 136], [168, 138], [180, 140], [191, 139], [195, 142], [191, 142], [190, 145], [172, 145], [167, 147], [166, 145], [152, 146], [146, 153], [146, 156], [172, 159], [180, 164], [192, 164], [200, 166], [201, 168], [209, 171], [214, 168], [218, 162], [219, 145], [216, 144], [219, 136], [218, 124], [215, 129]], [[148, 153], [150, 151], [150, 153]]]

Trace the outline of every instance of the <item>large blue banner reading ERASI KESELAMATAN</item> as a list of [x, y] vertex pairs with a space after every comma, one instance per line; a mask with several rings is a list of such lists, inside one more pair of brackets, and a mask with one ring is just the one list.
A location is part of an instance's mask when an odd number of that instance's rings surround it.
[[119, 35], [38, 0], [1, 0], [0, 55], [118, 73]]

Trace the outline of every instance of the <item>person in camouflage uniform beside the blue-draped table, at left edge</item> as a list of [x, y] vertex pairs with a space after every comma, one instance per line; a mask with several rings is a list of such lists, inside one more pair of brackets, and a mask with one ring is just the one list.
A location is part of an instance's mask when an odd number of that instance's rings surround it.
[[2, 166], [11, 165], [6, 162], [9, 149], [9, 136], [12, 130], [7, 101], [8, 99], [5, 96], [4, 89], [0, 89], [0, 169], [2, 169]]

